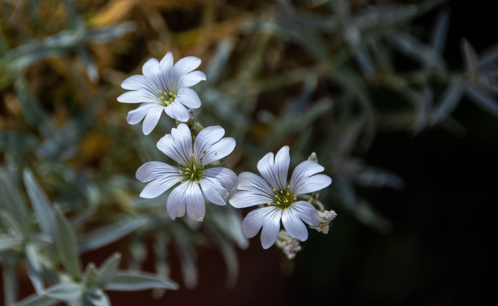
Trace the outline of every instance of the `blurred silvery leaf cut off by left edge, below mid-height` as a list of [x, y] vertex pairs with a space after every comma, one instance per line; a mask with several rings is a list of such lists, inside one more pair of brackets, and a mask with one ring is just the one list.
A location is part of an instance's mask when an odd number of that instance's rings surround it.
[[0, 208], [4, 207], [17, 222], [26, 224], [28, 215], [26, 204], [12, 183], [12, 178], [2, 167], [0, 167], [0, 191]]

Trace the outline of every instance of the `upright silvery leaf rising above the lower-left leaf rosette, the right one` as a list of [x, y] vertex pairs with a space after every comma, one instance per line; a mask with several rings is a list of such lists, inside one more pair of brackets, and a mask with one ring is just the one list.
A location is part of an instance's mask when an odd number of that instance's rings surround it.
[[64, 268], [74, 280], [81, 280], [81, 264], [77, 254], [76, 238], [73, 229], [64, 217], [59, 206], [54, 209], [56, 221], [55, 244]]

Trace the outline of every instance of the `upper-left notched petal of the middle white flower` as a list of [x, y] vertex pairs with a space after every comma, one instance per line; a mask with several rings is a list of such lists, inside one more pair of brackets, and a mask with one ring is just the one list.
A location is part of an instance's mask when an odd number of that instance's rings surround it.
[[157, 142], [157, 149], [180, 164], [187, 164], [192, 155], [192, 136], [186, 124], [179, 124]]

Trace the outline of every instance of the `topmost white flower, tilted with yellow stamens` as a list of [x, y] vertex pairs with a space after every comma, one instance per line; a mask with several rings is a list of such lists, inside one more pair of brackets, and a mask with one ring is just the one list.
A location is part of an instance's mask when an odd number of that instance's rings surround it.
[[199, 96], [189, 88], [206, 80], [202, 71], [193, 71], [200, 64], [200, 58], [187, 56], [173, 65], [171, 52], [166, 53], [160, 62], [155, 58], [147, 60], [142, 66], [143, 75], [132, 75], [121, 84], [121, 87], [131, 91], [119, 96], [119, 102], [142, 102], [136, 110], [128, 113], [126, 121], [137, 124], [143, 119], [142, 131], [145, 135], [155, 128], [162, 111], [175, 120], [188, 121], [189, 114], [185, 107], [201, 106]]

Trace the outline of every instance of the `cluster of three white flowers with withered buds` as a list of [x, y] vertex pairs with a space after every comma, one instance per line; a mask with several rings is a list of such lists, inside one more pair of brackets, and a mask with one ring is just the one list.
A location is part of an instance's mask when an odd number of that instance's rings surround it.
[[[260, 206], [244, 219], [244, 236], [252, 238], [262, 228], [263, 248], [269, 248], [276, 241], [291, 259], [301, 250], [299, 241], [308, 239], [304, 223], [328, 232], [328, 223], [335, 217], [335, 212], [332, 211], [334, 216], [331, 216], [330, 212], [317, 211], [303, 195], [327, 187], [332, 179], [317, 174], [324, 168], [316, 162], [315, 154], [314, 160], [305, 160], [296, 166], [288, 182], [290, 155], [287, 146], [275, 156], [267, 153], [259, 160], [257, 169], [261, 176], [251, 172], [237, 176], [228, 168], [209, 167], [212, 162], [232, 153], [236, 142], [233, 138], [224, 138], [225, 130], [220, 126], [202, 129], [192, 141], [189, 126], [196, 123], [189, 120], [187, 108], [199, 108], [201, 100], [189, 87], [206, 80], [203, 72], [193, 71], [200, 64], [201, 60], [194, 56], [173, 64], [173, 55], [168, 52], [160, 61], [155, 58], [146, 61], [143, 75], [132, 75], [121, 84], [130, 91], [119, 96], [119, 102], [141, 103], [128, 113], [127, 122], [137, 124], [143, 120], [145, 135], [155, 128], [162, 111], [181, 122], [157, 143], [157, 149], [178, 165], [149, 161], [140, 166], [136, 178], [147, 182], [140, 196], [154, 198], [178, 184], [167, 199], [169, 216], [174, 220], [186, 211], [192, 220], [202, 221], [206, 212], [204, 197], [214, 204], [226, 205], [229, 191], [238, 188], [230, 204], [237, 208]], [[280, 220], [285, 231], [279, 234]]]

